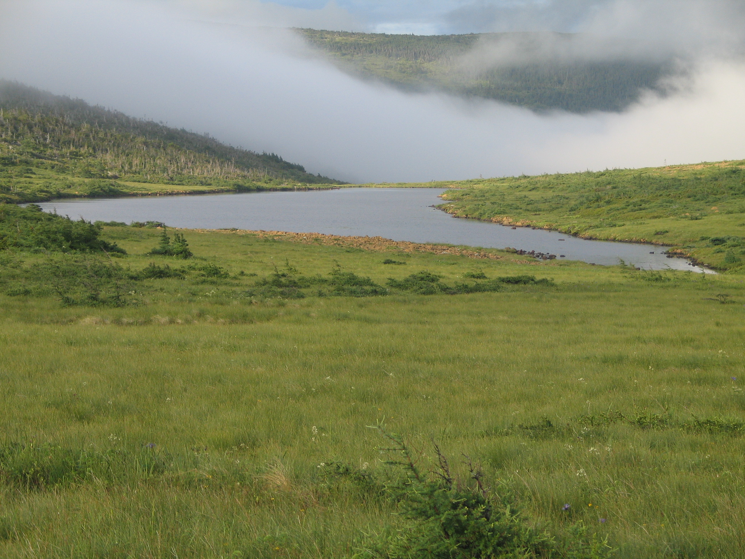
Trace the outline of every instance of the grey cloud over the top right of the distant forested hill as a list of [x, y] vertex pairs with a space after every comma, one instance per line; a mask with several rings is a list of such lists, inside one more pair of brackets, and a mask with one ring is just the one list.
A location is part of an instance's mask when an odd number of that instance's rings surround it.
[[530, 63], [618, 61], [665, 64], [668, 73], [685, 73], [701, 60], [745, 54], [745, 4], [735, 0], [478, 2], [448, 17], [470, 29], [522, 31], [482, 37], [460, 60], [472, 73]]

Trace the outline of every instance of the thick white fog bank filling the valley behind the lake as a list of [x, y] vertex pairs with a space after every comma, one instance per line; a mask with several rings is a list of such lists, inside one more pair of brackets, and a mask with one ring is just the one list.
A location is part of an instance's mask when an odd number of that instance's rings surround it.
[[183, 4], [28, 0], [0, 7], [0, 77], [208, 131], [344, 180], [745, 157], [745, 68], [721, 51], [701, 51], [673, 97], [650, 93], [621, 114], [536, 115], [364, 83], [297, 56], [304, 46], [292, 34], [267, 40], [250, 18], [197, 17]]

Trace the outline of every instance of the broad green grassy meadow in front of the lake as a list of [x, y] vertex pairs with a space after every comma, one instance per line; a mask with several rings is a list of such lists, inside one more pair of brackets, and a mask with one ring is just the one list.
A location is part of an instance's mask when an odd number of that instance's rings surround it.
[[[18, 271], [47, 256], [1, 256], [1, 557], [368, 557], [370, 538], [406, 520], [328, 465], [390, 479], [368, 428], [380, 423], [422, 468], [434, 438], [454, 476], [468, 477], [468, 455], [530, 525], [562, 537], [582, 521], [612, 557], [745, 555], [736, 271], [180, 233], [193, 259], [145, 255], [160, 236], [148, 227], [104, 239], [131, 271], [226, 273], [133, 281], [118, 307], [25, 294]], [[249, 295], [275, 270], [337, 266], [378, 284], [419, 271], [552, 282]]]

